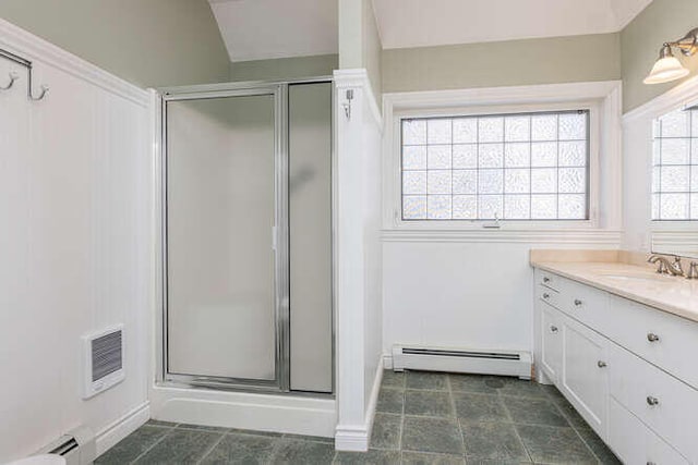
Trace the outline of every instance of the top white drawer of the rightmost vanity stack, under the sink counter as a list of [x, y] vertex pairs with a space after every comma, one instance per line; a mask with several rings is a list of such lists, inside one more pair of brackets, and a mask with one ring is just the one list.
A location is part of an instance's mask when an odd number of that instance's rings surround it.
[[605, 320], [609, 339], [698, 389], [698, 323], [614, 295]]

